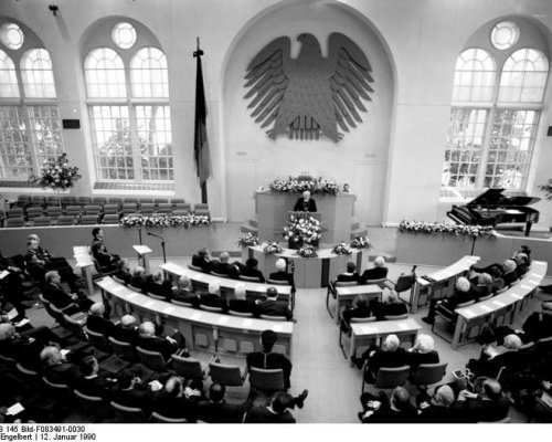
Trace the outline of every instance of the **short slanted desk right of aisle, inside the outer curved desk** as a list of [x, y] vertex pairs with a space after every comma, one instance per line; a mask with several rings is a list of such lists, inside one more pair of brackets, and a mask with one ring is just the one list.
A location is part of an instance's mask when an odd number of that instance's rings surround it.
[[469, 267], [478, 261], [479, 256], [466, 255], [454, 264], [426, 275], [435, 280], [434, 282], [418, 277], [410, 295], [411, 313], [416, 313], [420, 307], [425, 307], [432, 299], [449, 297], [454, 292], [456, 280], [464, 276]]

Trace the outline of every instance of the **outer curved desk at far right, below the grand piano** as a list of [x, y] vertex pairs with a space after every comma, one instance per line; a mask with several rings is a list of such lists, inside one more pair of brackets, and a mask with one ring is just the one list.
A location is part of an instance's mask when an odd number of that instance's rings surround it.
[[[458, 319], [453, 335], [453, 348], [459, 346], [463, 337], [476, 337], [485, 325], [492, 322], [498, 322], [499, 325], [512, 323], [516, 316], [527, 307], [529, 297], [544, 278], [546, 270], [546, 262], [533, 261], [523, 278], [505, 293], [468, 307], [457, 308], [455, 312], [458, 314]], [[470, 336], [469, 332], [476, 325], [478, 329], [474, 336]]]

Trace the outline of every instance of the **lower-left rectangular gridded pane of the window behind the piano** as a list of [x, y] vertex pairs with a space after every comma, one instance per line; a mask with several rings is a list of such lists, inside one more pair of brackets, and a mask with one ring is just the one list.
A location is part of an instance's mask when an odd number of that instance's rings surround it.
[[485, 109], [452, 110], [442, 186], [474, 188], [481, 160], [487, 115]]

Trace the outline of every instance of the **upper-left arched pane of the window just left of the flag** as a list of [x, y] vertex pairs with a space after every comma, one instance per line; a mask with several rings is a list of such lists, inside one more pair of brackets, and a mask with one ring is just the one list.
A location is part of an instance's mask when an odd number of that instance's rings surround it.
[[120, 56], [108, 48], [91, 51], [84, 62], [86, 92], [91, 98], [127, 96], [125, 66]]

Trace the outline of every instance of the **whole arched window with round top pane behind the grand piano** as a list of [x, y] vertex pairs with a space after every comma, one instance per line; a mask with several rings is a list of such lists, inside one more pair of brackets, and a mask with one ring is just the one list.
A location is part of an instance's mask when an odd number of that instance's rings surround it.
[[531, 43], [530, 36], [523, 40], [523, 27], [497, 23], [491, 52], [470, 48], [458, 56], [444, 188], [526, 189], [549, 62], [538, 49], [519, 48]]

